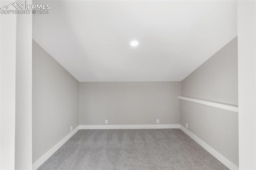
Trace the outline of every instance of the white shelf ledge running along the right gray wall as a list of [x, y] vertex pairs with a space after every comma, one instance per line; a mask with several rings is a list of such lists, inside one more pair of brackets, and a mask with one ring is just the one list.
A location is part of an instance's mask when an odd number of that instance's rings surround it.
[[234, 105], [226, 105], [224, 103], [216, 103], [216, 102], [212, 102], [212, 101], [194, 99], [194, 98], [184, 97], [184, 96], [179, 96], [179, 99], [186, 100], [186, 101], [192, 101], [194, 103], [200, 103], [202, 105], [208, 105], [208, 106], [217, 107], [220, 109], [238, 113], [238, 107], [234, 106]]

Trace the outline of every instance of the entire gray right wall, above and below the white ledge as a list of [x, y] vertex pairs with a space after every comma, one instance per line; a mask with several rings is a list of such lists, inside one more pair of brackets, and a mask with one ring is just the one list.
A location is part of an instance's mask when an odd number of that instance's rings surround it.
[[[182, 95], [238, 105], [237, 37], [182, 81]], [[238, 166], [238, 113], [180, 100], [180, 125]]]

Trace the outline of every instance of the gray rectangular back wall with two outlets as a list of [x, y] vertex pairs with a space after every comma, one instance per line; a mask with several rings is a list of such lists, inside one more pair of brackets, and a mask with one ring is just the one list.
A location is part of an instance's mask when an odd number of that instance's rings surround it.
[[179, 124], [181, 82], [80, 82], [80, 125]]

